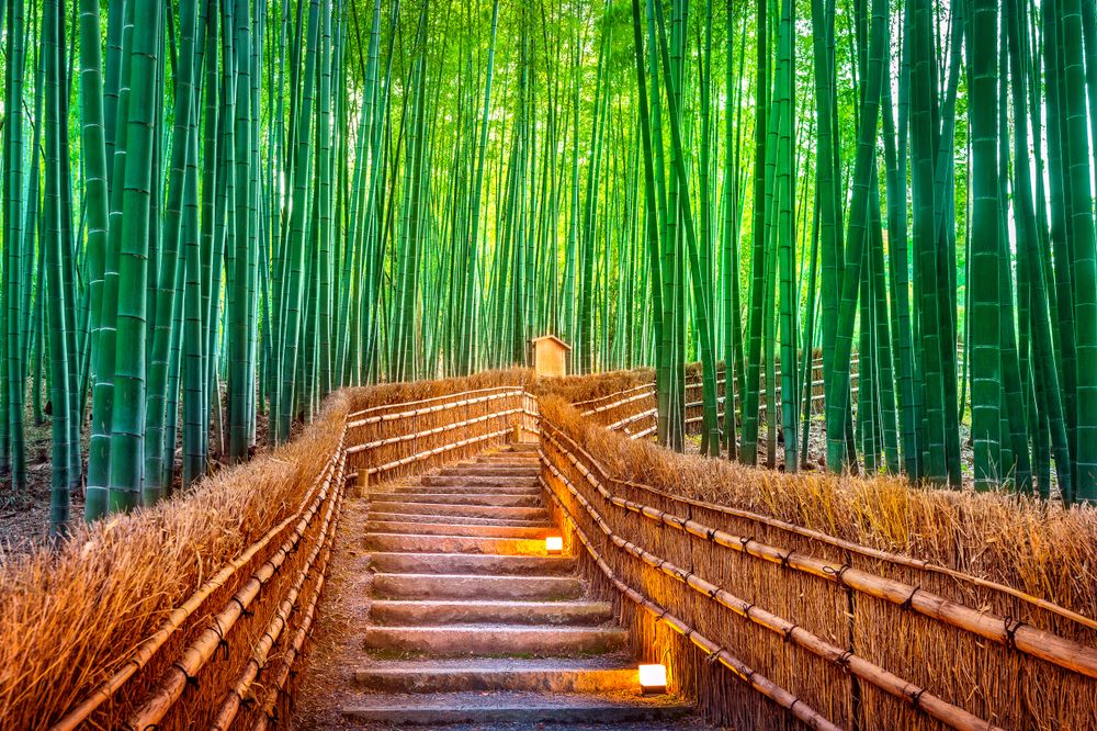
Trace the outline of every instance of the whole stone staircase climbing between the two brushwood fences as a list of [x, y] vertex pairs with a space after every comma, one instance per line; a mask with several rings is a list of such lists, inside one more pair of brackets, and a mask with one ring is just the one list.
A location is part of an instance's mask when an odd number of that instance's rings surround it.
[[587, 597], [556, 532], [532, 446], [371, 492], [373, 598], [344, 721], [375, 728], [694, 727], [640, 694], [626, 633]]

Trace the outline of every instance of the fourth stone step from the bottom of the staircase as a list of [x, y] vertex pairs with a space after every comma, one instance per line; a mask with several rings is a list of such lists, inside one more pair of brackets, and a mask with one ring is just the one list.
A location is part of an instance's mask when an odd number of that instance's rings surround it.
[[375, 599], [370, 621], [378, 625], [602, 625], [613, 619], [604, 601], [400, 601]]

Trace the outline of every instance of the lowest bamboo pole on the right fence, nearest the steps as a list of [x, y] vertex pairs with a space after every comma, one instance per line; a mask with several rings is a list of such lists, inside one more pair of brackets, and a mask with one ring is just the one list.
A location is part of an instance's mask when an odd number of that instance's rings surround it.
[[672, 630], [679, 634], [686, 637], [690, 642], [695, 644], [706, 656], [717, 661], [721, 665], [732, 671], [736, 677], [749, 685], [755, 690], [758, 690], [764, 696], [781, 706], [793, 717], [805, 723], [811, 729], [817, 729], [819, 731], [841, 731], [841, 727], [835, 726], [825, 717], [819, 715], [815, 709], [811, 708], [802, 699], [789, 693], [781, 686], [777, 685], [766, 676], [756, 672], [749, 667], [742, 660], [733, 655], [727, 649], [717, 645], [715, 642], [704, 637], [700, 632], [695, 631], [692, 627], [687, 625], [685, 621], [671, 615], [664, 607], [655, 604], [646, 596], [632, 588], [623, 581], [621, 581], [618, 575], [613, 572], [613, 569], [602, 559], [599, 554], [598, 549], [593, 547], [587, 535], [583, 531], [583, 528], [575, 521], [570, 514], [568, 514], [567, 508], [559, 502], [556, 494], [548, 491], [550, 496], [559, 507], [561, 513], [572, 524], [572, 530], [575, 536], [583, 543], [584, 548], [595, 560], [598, 567], [606, 574], [606, 577], [617, 587], [619, 592], [624, 594], [626, 597], [632, 599], [635, 604], [643, 607], [651, 615], [653, 615], [658, 621], [661, 621], [670, 627]]

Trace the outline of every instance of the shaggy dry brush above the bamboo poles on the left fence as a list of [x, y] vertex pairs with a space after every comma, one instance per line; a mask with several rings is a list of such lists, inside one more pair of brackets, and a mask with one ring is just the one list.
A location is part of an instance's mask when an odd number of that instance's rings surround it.
[[[333, 452], [350, 403], [336, 394], [296, 440], [223, 470], [186, 495], [79, 525], [59, 549], [5, 556], [0, 566], [3, 726], [38, 729], [58, 720], [205, 580], [292, 516]], [[231, 591], [226, 586], [211, 595], [158, 655], [167, 659], [183, 646]], [[120, 705], [147, 690], [163, 666], [154, 661], [135, 675]]]

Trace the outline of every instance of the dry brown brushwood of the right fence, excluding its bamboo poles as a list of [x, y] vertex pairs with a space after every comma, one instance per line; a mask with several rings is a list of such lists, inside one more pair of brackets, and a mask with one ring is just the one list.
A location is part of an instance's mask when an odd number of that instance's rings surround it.
[[[1024, 622], [1084, 648], [1097, 646], [1093, 620], [1097, 617], [1097, 510], [1093, 508], [1067, 510], [1003, 494], [919, 490], [889, 477], [788, 475], [631, 441], [592, 425], [559, 398], [543, 398], [541, 413], [545, 421], [581, 445], [587, 452], [584, 459], [600, 464], [612, 479], [612, 491], [627, 501], [732, 536], [817, 556], [835, 567], [849, 565], [901, 582], [976, 614], [1003, 618], [1008, 626]], [[551, 427], [543, 425], [543, 429], [554, 434]], [[546, 453], [553, 458], [555, 449], [548, 443]], [[695, 571], [829, 643], [848, 648], [912, 687], [926, 688], [1005, 728], [1097, 726], [1097, 681], [1092, 677], [1025, 654], [1008, 642], [987, 641], [900, 604], [852, 592], [834, 575], [814, 576], [760, 561], [623, 510], [587, 485], [581, 470], [561, 462], [558, 451], [554, 463], [569, 473], [572, 483], [625, 541]], [[568, 506], [569, 515], [576, 511], [581, 514], [581, 507]], [[588, 536], [599, 536], [593, 524], [583, 527]], [[891, 560], [856, 547], [898, 556]], [[601, 540], [599, 550], [610, 556], [613, 571], [630, 586], [839, 726], [940, 728], [917, 709], [916, 699], [895, 698], [857, 682], [840, 663], [790, 644], [787, 638], [717, 606], [607, 540]], [[968, 577], [920, 566], [919, 561]], [[590, 562], [587, 571], [608, 596], [618, 596]], [[976, 580], [1054, 603], [1083, 619]], [[636, 651], [647, 660], [668, 659], [679, 687], [698, 697], [713, 720], [743, 728], [787, 728], [783, 710], [706, 662], [689, 641], [636, 605], [615, 600]]]

